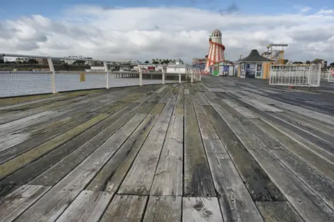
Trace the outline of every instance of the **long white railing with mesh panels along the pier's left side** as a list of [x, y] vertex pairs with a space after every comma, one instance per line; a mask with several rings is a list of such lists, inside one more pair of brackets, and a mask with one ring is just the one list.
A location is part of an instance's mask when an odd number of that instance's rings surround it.
[[[53, 60], [66, 59], [68, 61], [69, 58], [17, 54], [3, 54], [3, 56], [45, 58], [49, 71], [0, 71], [0, 97], [58, 93], [94, 88], [114, 88], [120, 86], [182, 83], [201, 80], [200, 70], [186, 67], [185, 65], [163, 65], [161, 66], [161, 72], [145, 72], [143, 67], [151, 64], [133, 64], [138, 68], [138, 71], [113, 72], [109, 70], [108, 63], [119, 64], [119, 62], [82, 59], [83, 61], [101, 62], [104, 68], [86, 71], [56, 71]], [[167, 67], [175, 68], [176, 73], [166, 72]]]

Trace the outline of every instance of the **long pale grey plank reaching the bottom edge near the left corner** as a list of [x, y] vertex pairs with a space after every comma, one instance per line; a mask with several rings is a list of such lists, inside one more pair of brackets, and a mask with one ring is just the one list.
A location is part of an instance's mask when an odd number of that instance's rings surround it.
[[[134, 132], [145, 114], [137, 114], [121, 129], [113, 134], [77, 168], [52, 187], [42, 198], [17, 218], [17, 221], [54, 221], [72, 203], [74, 198], [86, 187], [90, 180], [100, 171], [122, 143]], [[59, 162], [62, 164], [61, 162]], [[58, 164], [58, 165], [60, 165]], [[54, 165], [57, 167], [57, 164]]]

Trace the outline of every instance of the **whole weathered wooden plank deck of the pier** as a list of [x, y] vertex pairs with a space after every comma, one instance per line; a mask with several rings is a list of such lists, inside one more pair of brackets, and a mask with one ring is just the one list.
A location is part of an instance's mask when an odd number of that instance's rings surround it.
[[334, 221], [333, 95], [251, 79], [0, 100], [0, 221]]

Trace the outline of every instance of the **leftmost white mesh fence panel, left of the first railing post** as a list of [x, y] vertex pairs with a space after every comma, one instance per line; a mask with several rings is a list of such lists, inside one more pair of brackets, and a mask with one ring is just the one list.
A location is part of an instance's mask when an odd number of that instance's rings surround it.
[[52, 93], [51, 72], [0, 71], [0, 97]]

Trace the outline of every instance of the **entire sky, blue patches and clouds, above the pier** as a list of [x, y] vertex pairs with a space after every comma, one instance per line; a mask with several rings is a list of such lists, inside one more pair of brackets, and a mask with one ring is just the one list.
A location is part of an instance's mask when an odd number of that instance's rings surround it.
[[0, 19], [0, 53], [191, 61], [220, 29], [232, 61], [269, 42], [290, 61], [334, 61], [333, 0], [15, 0]]

